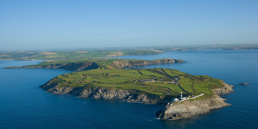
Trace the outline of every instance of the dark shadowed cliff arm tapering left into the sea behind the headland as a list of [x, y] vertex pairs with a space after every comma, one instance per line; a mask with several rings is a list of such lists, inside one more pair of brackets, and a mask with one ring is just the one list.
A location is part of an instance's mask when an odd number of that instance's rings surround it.
[[99, 66], [94, 62], [71, 62], [71, 63], [57, 63], [57, 64], [49, 64], [49, 65], [27, 65], [20, 67], [7, 67], [7, 68], [60, 68], [69, 71], [83, 71], [83, 70], [91, 70], [96, 69]]

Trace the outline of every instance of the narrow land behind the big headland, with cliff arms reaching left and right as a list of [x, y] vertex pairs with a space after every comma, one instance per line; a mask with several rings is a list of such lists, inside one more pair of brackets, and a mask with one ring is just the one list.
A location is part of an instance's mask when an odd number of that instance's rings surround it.
[[175, 59], [158, 59], [158, 60], [133, 60], [133, 59], [109, 59], [109, 58], [97, 58], [97, 59], [81, 59], [81, 60], [65, 60], [65, 61], [44, 61], [38, 65], [26, 65], [19, 67], [7, 67], [7, 68], [60, 68], [69, 71], [83, 71], [96, 68], [105, 69], [123, 69], [126, 67], [133, 67], [139, 65], [150, 64], [164, 64], [164, 63], [179, 63], [186, 62], [183, 60]]

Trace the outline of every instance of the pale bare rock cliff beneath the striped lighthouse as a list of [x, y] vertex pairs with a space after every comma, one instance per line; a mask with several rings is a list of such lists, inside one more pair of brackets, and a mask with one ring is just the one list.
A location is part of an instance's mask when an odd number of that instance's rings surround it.
[[189, 118], [197, 114], [209, 112], [213, 108], [221, 108], [231, 104], [225, 103], [218, 94], [231, 93], [232, 85], [225, 84], [224, 88], [212, 89], [217, 95], [200, 96], [199, 99], [192, 101], [177, 101], [164, 106], [160, 111], [156, 112], [156, 117], [161, 119], [183, 119]]

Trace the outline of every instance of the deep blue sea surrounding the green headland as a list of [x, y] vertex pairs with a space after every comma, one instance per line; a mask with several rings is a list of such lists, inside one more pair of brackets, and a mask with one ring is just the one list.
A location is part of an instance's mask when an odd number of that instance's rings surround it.
[[[163, 120], [154, 115], [165, 105], [131, 103], [123, 99], [80, 98], [50, 94], [39, 86], [61, 69], [15, 68], [39, 64], [35, 61], [0, 61], [0, 128], [257, 128], [258, 50], [174, 51], [154, 55], [124, 56], [122, 59], [171, 58], [183, 63], [142, 65], [131, 68], [172, 68], [192, 75], [208, 75], [234, 85], [235, 92], [221, 95], [232, 104], [187, 119]], [[249, 85], [239, 85], [250, 83]]]

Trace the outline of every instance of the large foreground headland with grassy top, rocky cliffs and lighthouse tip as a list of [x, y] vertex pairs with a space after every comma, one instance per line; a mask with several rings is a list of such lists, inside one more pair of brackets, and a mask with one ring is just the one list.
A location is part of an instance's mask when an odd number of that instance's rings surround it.
[[[225, 103], [224, 99], [218, 95], [234, 92], [233, 85], [206, 75], [194, 76], [179, 70], [166, 68], [92, 69], [59, 75], [41, 85], [41, 87], [53, 94], [164, 104], [178, 98], [178, 93], [182, 91], [179, 84], [168, 84], [167, 81], [170, 80], [164, 79], [169, 77], [166, 76], [168, 73], [173, 76], [180, 76], [182, 81], [178, 80], [178, 82], [181, 86], [196, 82], [196, 85], [192, 84], [192, 89], [196, 92], [184, 91], [183, 96], [189, 96], [189, 93], [191, 93], [192, 99], [167, 104], [162, 110], [156, 112], [158, 118], [189, 118], [193, 115], [209, 112], [213, 108], [231, 105]], [[162, 81], [157, 78], [162, 78]], [[183, 82], [182, 78], [187, 82]]]

